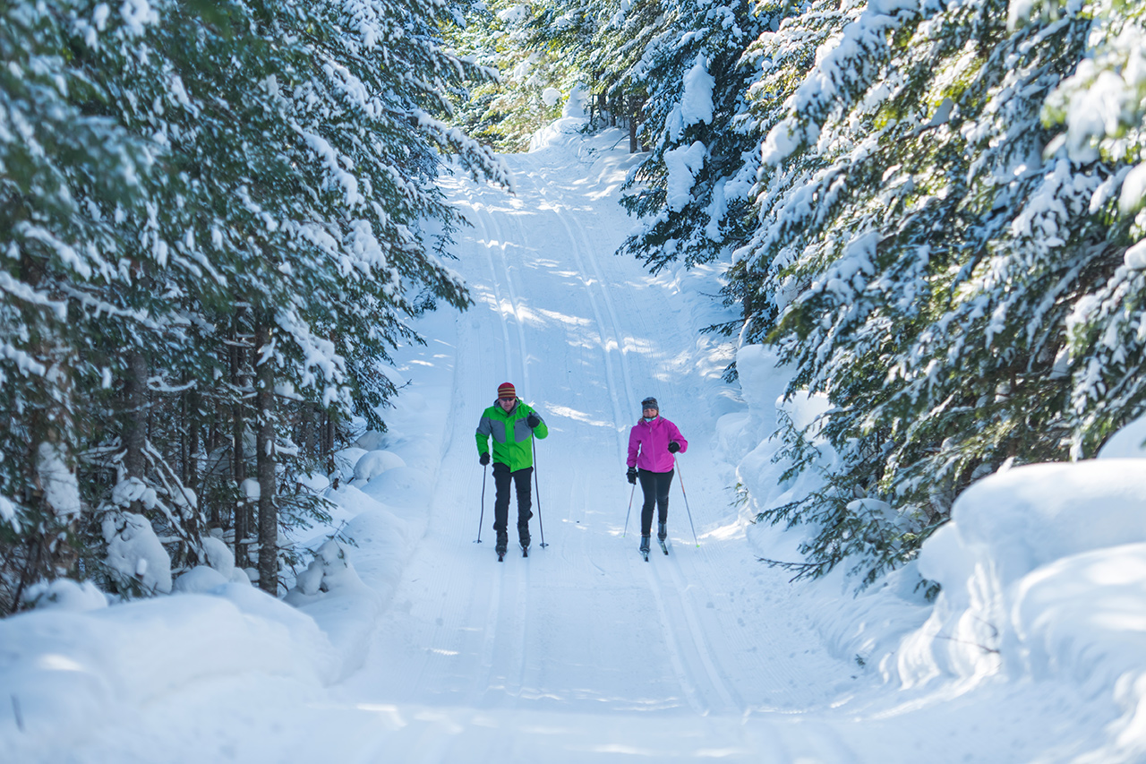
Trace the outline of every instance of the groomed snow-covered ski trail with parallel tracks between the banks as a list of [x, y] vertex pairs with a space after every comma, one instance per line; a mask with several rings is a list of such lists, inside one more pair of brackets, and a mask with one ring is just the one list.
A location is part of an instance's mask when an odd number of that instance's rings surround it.
[[[730, 470], [713, 443], [719, 381], [691, 352], [682, 295], [613, 255], [631, 227], [615, 204], [629, 161], [579, 159], [558, 146], [508, 157], [513, 196], [450, 187], [473, 223], [458, 267], [477, 304], [457, 321], [449, 436], [425, 537], [366, 666], [340, 691], [360, 708], [442, 715], [454, 734], [415, 761], [551, 758], [565, 748], [578, 761], [586, 746], [770, 761], [760, 756], [777, 735], [755, 741], [760, 726], [746, 719], [824, 707], [851, 681], [784, 592], [756, 585], [774, 576], [730, 520]], [[536, 442], [532, 555], [511, 547], [497, 563], [493, 480], [472, 432], [507, 380], [550, 435]], [[670, 554], [654, 547], [646, 563], [636, 549], [639, 491], [631, 497], [623, 473], [647, 395], [690, 449], [670, 498]], [[823, 746], [831, 735], [815, 738]]]

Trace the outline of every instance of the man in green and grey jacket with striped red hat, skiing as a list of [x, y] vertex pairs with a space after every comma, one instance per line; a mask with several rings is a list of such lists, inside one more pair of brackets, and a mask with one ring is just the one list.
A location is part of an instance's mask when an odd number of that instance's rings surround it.
[[494, 439], [494, 531], [497, 555], [509, 545], [509, 484], [517, 488], [517, 535], [521, 548], [529, 546], [529, 476], [533, 474], [533, 437], [544, 438], [549, 428], [527, 403], [517, 397], [509, 382], [497, 388], [497, 400], [481, 412], [478, 422], [478, 459], [489, 463], [489, 438]]

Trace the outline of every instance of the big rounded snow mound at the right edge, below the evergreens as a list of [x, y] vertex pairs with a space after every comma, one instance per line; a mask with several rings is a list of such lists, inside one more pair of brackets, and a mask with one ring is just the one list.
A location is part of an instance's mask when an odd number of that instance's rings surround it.
[[1068, 681], [1122, 708], [1118, 761], [1146, 754], [1146, 730], [1132, 724], [1146, 705], [1146, 462], [992, 475], [959, 497], [919, 570], [943, 590], [888, 656], [904, 687], [942, 676]]

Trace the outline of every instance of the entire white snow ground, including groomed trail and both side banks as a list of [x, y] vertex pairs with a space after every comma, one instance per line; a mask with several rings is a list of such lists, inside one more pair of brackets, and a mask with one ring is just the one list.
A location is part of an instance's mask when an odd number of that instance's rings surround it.
[[[779, 481], [770, 436], [824, 404], [785, 400], [766, 348], [722, 381], [733, 349], [697, 333], [729, 318], [720, 266], [653, 278], [613, 256], [637, 159], [578, 124], [507, 157], [516, 195], [445, 181], [473, 224], [456, 265], [477, 304], [421, 319], [387, 432], [306, 480], [335, 527], [292, 539], [314, 562], [285, 601], [235, 583], [217, 539], [172, 595], [36, 588], [0, 621], [0, 761], [1146, 759], [1141, 421], [1101, 459], [984, 478], [858, 594], [839, 570], [790, 583], [758, 556], [794, 559], [800, 532], [752, 521], [816, 489]], [[531, 555], [499, 563], [473, 430], [507, 380], [549, 437]], [[690, 447], [669, 554], [645, 562], [623, 473], [649, 395]], [[366, 469], [383, 452], [402, 465]]]

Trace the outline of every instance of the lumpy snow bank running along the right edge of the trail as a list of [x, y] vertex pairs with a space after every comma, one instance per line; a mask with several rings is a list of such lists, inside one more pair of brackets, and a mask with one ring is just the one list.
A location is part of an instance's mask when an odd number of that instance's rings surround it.
[[[815, 400], [784, 402], [787, 375], [764, 348], [737, 356], [746, 412], [719, 423], [720, 443], [751, 492], [746, 512], [815, 488], [779, 482], [769, 441], [780, 418], [811, 421]], [[1146, 418], [1110, 438], [1099, 459], [1029, 465], [972, 485], [919, 559], [851, 595], [839, 570], [801, 585], [801, 600], [839, 657], [878, 666], [901, 691], [973, 689], [987, 678], [1070, 687], [1107, 742], [1093, 761], [1146, 756]], [[799, 533], [799, 530], [798, 530]], [[761, 556], [798, 533], [753, 527]], [[934, 603], [919, 583], [936, 582]], [[1093, 709], [1114, 709], [1094, 711]]]

